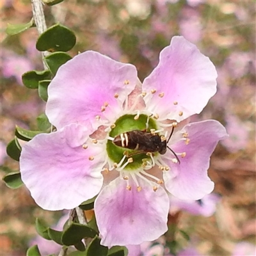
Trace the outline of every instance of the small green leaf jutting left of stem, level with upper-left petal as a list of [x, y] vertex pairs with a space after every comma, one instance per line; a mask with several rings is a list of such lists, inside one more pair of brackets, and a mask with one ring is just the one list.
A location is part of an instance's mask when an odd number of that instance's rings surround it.
[[29, 89], [37, 89], [39, 81], [49, 79], [50, 77], [51, 72], [49, 70], [31, 70], [22, 75], [22, 82]]

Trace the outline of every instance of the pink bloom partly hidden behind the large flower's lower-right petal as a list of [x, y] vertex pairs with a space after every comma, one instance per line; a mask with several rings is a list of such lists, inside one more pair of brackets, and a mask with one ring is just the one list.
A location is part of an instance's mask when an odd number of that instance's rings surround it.
[[180, 200], [170, 196], [170, 212], [175, 213], [180, 210], [188, 211], [193, 215], [211, 216], [216, 211], [216, 204], [220, 201], [220, 196], [211, 193], [205, 195], [200, 200]]

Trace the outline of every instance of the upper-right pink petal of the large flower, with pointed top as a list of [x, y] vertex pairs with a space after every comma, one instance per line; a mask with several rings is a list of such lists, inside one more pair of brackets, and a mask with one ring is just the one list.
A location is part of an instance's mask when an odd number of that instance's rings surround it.
[[216, 93], [216, 77], [208, 57], [183, 36], [173, 36], [170, 46], [161, 51], [159, 64], [143, 82], [143, 91], [156, 90], [146, 100], [148, 110], [178, 122], [200, 113]]

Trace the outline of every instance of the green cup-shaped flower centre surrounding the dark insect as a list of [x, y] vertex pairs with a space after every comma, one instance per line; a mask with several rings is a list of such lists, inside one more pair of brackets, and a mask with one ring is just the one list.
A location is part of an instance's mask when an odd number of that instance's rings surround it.
[[[136, 115], [124, 115], [118, 118], [115, 122], [115, 128], [111, 129], [109, 136], [115, 138], [116, 136], [134, 130], [145, 131], [147, 120], [148, 120], [148, 129], [157, 129], [156, 121], [153, 118], [148, 118], [147, 115], [140, 115], [138, 119], [134, 119]], [[132, 154], [133, 162], [125, 166], [125, 170], [138, 170], [143, 163], [143, 159], [150, 159], [150, 156], [147, 156], [145, 153], [140, 153], [138, 150], [132, 150], [129, 148], [118, 147], [113, 141], [108, 140], [107, 143], [107, 152], [108, 156], [114, 163], [120, 163], [124, 157], [124, 152], [128, 152], [128, 157], [125, 159], [124, 164], [127, 162], [129, 155]], [[138, 154], [136, 154], [138, 153]]]

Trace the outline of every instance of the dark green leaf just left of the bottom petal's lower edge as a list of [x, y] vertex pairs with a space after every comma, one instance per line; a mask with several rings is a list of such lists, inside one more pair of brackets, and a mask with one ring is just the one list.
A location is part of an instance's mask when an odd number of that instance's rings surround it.
[[63, 231], [61, 241], [63, 244], [70, 246], [79, 243], [84, 237], [95, 237], [97, 232], [92, 228], [79, 223], [72, 223]]

